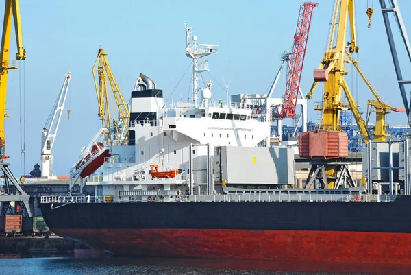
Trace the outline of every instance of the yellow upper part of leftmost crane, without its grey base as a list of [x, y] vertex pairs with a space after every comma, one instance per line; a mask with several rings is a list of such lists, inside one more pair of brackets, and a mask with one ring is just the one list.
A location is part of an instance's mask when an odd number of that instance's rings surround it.
[[10, 39], [12, 32], [12, 18], [14, 19], [14, 29], [16, 32], [17, 60], [25, 60], [26, 50], [23, 48], [23, 38], [21, 36], [20, 5], [18, 0], [6, 0], [3, 21], [3, 36], [1, 38], [1, 68], [0, 68], [0, 159], [8, 158], [5, 154], [5, 131], [4, 118], [8, 117], [5, 110], [5, 98], [7, 95], [8, 70], [17, 69], [16, 62], [10, 59]]

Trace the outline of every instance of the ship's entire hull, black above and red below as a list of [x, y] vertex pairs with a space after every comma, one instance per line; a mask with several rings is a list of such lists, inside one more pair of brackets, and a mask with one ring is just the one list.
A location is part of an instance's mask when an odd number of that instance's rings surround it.
[[114, 254], [411, 265], [411, 198], [396, 202], [42, 204], [57, 235]]

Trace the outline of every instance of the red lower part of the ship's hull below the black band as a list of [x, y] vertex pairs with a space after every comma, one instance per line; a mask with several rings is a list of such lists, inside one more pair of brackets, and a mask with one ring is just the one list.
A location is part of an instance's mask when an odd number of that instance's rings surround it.
[[125, 256], [411, 267], [411, 234], [295, 230], [54, 229]]

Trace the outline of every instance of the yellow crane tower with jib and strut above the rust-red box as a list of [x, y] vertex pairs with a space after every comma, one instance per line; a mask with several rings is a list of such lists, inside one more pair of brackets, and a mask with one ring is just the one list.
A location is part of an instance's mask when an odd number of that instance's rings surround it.
[[[349, 91], [347, 82], [345, 82], [344, 79], [344, 76], [348, 74], [345, 70], [346, 48], [349, 47], [350, 53], [358, 53], [360, 50], [356, 41], [356, 14], [354, 5], [354, 0], [336, 0], [328, 48], [323, 56], [323, 60], [321, 60], [319, 68], [314, 70], [314, 84], [310, 92], [306, 95], [306, 98], [311, 99], [312, 93], [314, 93], [318, 83], [324, 82], [323, 106], [316, 108], [316, 110], [323, 112], [321, 128], [324, 130], [340, 131], [340, 111], [345, 108], [341, 100], [344, 91], [360, 133], [364, 141], [367, 142], [369, 140], [368, 130], [364, 120], [361, 118], [358, 106]], [[350, 40], [347, 41], [348, 19]], [[334, 39], [334, 36], [336, 36], [336, 39]], [[335, 45], [334, 40], [336, 40]]]

